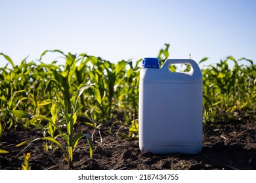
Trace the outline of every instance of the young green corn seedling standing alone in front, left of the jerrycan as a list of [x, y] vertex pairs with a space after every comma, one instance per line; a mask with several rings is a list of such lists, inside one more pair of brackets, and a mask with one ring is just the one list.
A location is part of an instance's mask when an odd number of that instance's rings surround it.
[[[41, 137], [41, 138], [30, 139], [28, 141], [21, 142], [20, 144], [18, 144], [16, 146], [22, 146], [24, 144], [27, 144], [27, 143], [30, 143], [33, 141], [37, 141], [37, 140], [51, 141], [62, 149], [62, 151], [64, 152], [64, 158], [66, 158], [66, 160], [68, 161], [68, 167], [72, 168], [73, 152], [75, 150], [75, 147], [77, 146], [77, 142], [79, 141], [79, 139], [86, 137], [87, 142], [89, 144], [89, 156], [90, 156], [90, 158], [92, 158], [93, 157], [93, 142], [92, 142], [91, 136], [88, 134], [85, 134], [85, 133], [81, 133], [81, 132], [74, 135], [74, 125], [75, 125], [75, 122], [77, 121], [77, 112], [81, 109], [81, 107], [79, 107], [79, 105], [78, 105], [78, 99], [81, 96], [81, 94], [85, 90], [88, 90], [89, 88], [92, 88], [93, 91], [95, 91], [96, 100], [98, 101], [98, 103], [101, 103], [100, 94], [94, 86], [83, 86], [81, 89], [79, 89], [77, 92], [75, 92], [73, 97], [70, 99], [70, 101], [72, 103], [73, 112], [68, 113], [65, 110], [62, 110], [62, 114], [66, 120], [66, 133], [64, 133], [62, 131], [62, 129], [58, 126], [58, 124], [54, 124], [53, 120], [50, 118], [47, 118], [46, 116], [32, 116], [24, 111], [13, 110], [12, 113], [18, 117], [37, 118], [37, 119], [47, 120], [49, 123], [53, 124], [54, 127], [56, 127], [56, 129], [59, 132], [59, 134], [56, 135], [56, 137], [54, 137], [54, 138], [53, 137]], [[60, 142], [57, 141], [58, 137], [61, 137], [62, 139], [64, 139], [66, 141], [66, 146], [62, 146], [62, 144], [60, 144]]]

